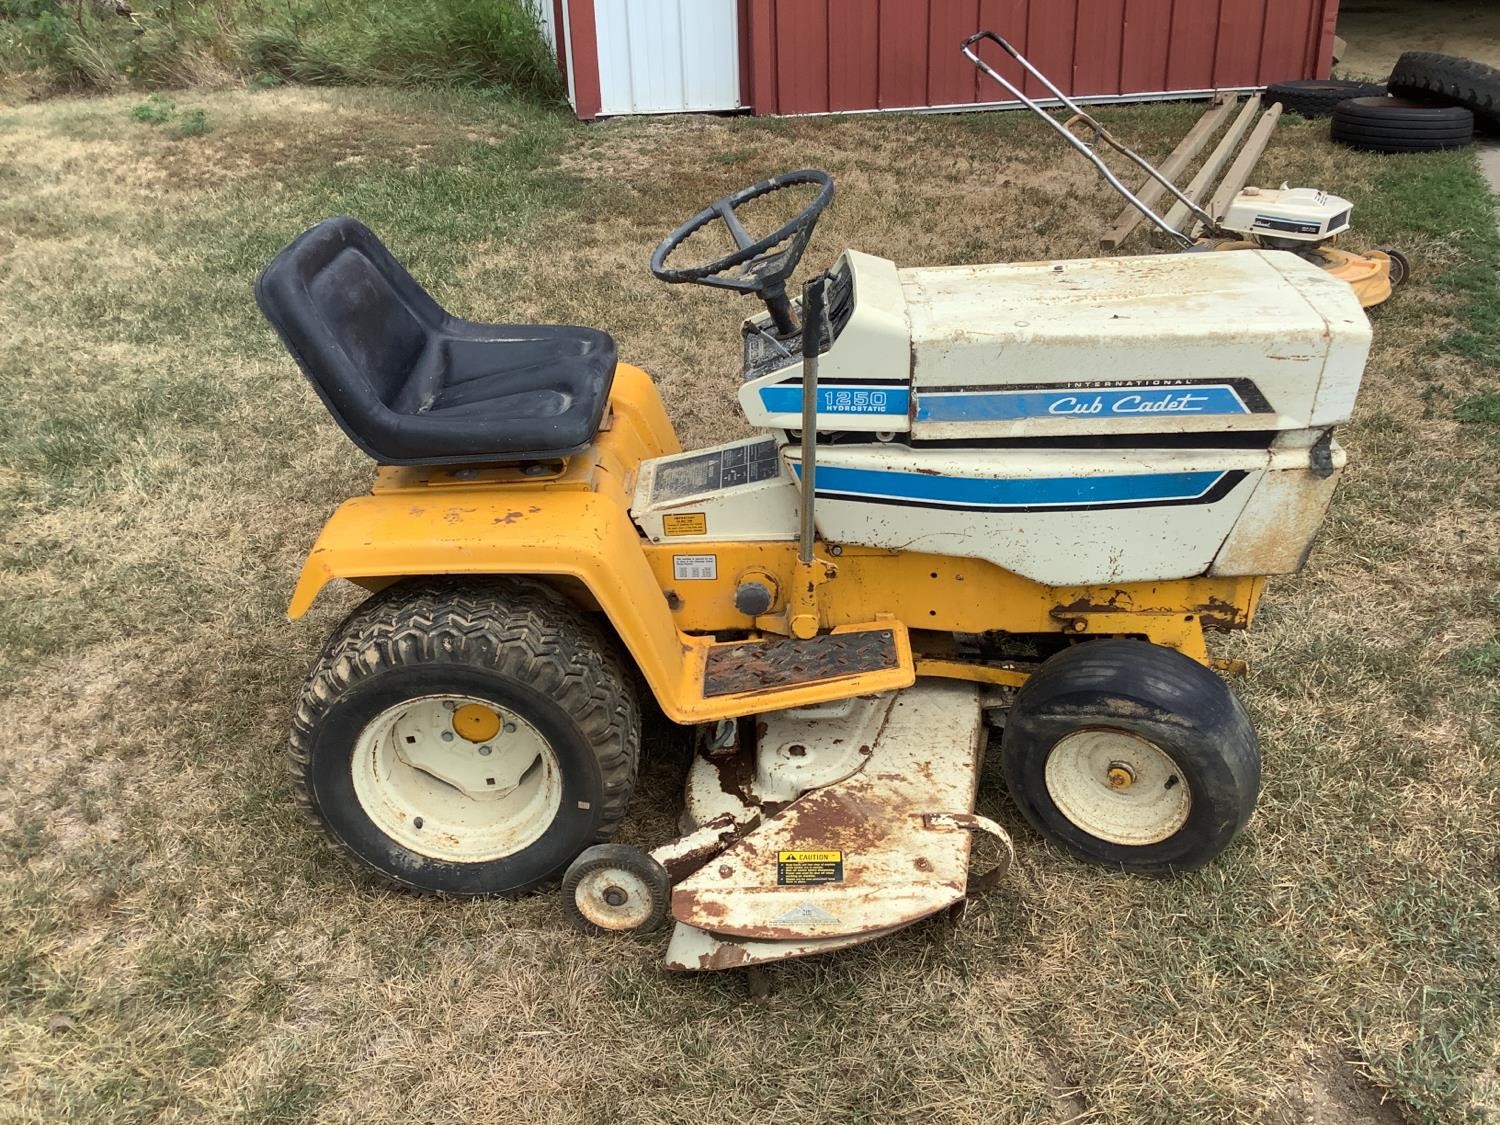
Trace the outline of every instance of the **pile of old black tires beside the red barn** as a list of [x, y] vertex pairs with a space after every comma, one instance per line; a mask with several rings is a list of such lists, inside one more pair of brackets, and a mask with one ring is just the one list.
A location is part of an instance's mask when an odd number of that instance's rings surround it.
[[1302, 117], [1330, 117], [1332, 136], [1372, 153], [1426, 153], [1473, 144], [1476, 122], [1500, 130], [1500, 69], [1431, 51], [1407, 51], [1384, 86], [1311, 81], [1266, 87], [1269, 102]]

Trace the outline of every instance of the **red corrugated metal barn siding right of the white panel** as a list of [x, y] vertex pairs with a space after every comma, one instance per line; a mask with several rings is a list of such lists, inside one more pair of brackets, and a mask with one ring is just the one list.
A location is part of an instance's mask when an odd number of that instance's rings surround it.
[[[609, 0], [598, 0], [600, 9]], [[1070, 94], [1326, 76], [1338, 0], [742, 0], [756, 112], [1004, 100], [958, 54], [1010, 39]], [[999, 54], [998, 51], [994, 54]], [[988, 56], [987, 56], [988, 57]], [[1018, 80], [1014, 63], [992, 63]], [[1026, 93], [1042, 88], [1028, 80]]]

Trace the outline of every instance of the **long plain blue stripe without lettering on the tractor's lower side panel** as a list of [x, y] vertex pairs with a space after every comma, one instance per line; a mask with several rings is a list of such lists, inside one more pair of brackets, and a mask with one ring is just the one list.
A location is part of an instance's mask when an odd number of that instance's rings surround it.
[[[794, 464], [798, 478], [802, 466]], [[908, 500], [988, 508], [1077, 507], [1084, 504], [1161, 504], [1208, 495], [1227, 472], [1144, 472], [1116, 477], [940, 477], [838, 465], [818, 466], [818, 494], [840, 500]]]

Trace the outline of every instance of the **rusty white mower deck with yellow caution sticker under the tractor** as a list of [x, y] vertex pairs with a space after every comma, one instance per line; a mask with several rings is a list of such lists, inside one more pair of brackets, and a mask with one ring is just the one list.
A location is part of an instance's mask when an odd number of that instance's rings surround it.
[[[765, 716], [753, 750], [710, 746], [694, 764], [694, 820], [764, 819], [674, 888], [670, 968], [854, 945], [964, 897], [970, 840], [960, 824], [984, 744], [978, 686], [922, 680], [850, 702]], [[819, 774], [831, 780], [802, 792]]]

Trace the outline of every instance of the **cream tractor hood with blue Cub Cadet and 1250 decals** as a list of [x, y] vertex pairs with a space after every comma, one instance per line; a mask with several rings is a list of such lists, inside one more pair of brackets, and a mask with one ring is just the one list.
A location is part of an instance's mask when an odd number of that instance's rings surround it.
[[[906, 270], [850, 250], [836, 270], [854, 310], [819, 364], [819, 429], [1316, 429], [1347, 422], [1370, 350], [1353, 290], [1281, 250]], [[752, 424], [800, 426], [800, 381], [789, 362], [746, 382]]]

